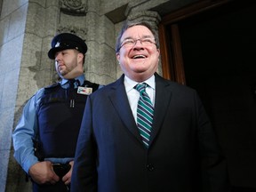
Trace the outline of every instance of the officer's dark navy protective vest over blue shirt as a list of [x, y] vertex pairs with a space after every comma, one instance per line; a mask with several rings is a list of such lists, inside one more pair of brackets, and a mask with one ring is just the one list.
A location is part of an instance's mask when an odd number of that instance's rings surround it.
[[[84, 81], [84, 87], [95, 92], [99, 84]], [[74, 157], [76, 140], [80, 129], [87, 95], [73, 92], [72, 105], [69, 88], [60, 84], [44, 88], [44, 94], [37, 110], [40, 156]]]

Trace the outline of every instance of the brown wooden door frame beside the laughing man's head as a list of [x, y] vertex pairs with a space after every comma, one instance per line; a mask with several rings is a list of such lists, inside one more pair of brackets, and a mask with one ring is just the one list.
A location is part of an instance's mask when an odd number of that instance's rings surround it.
[[[189, 4], [178, 11], [164, 16], [158, 26], [163, 77], [179, 84], [186, 84], [180, 43], [179, 21], [212, 8], [227, 4], [232, 0], [204, 0]], [[167, 27], [170, 29], [167, 30]]]

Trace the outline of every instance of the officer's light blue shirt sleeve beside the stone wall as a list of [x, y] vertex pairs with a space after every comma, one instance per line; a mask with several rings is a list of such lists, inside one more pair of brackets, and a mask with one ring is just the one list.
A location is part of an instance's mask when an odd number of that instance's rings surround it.
[[25, 172], [28, 173], [30, 166], [38, 162], [37, 157], [34, 155], [33, 138], [35, 130], [37, 129], [36, 118], [36, 105], [38, 103], [38, 94], [28, 100], [23, 108], [23, 113], [20, 121], [17, 124], [14, 132], [12, 133], [12, 141], [14, 148], [14, 158], [20, 164]]

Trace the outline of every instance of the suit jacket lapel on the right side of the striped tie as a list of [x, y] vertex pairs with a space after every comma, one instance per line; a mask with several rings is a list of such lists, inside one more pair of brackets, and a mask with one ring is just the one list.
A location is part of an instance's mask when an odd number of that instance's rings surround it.
[[153, 120], [153, 129], [150, 136], [150, 144], [156, 138], [157, 132], [159, 132], [166, 110], [169, 108], [170, 100], [172, 98], [172, 89], [170, 82], [164, 80], [161, 76], [156, 76], [156, 100], [155, 111]]

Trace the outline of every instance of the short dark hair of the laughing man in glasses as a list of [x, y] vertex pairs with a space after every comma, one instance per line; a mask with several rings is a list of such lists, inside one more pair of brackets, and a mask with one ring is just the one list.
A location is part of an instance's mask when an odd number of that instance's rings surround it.
[[159, 40], [158, 40], [156, 30], [153, 29], [153, 27], [148, 22], [146, 22], [146, 21], [136, 21], [136, 22], [126, 21], [126, 22], [124, 22], [124, 26], [121, 29], [121, 31], [120, 31], [119, 35], [117, 36], [117, 39], [116, 39], [116, 52], [119, 52], [119, 50], [121, 48], [121, 38], [122, 38], [124, 32], [128, 28], [132, 28], [134, 26], [144, 26], [144, 27], [148, 28], [151, 31], [151, 33], [153, 34], [154, 38], [155, 38], [156, 48], [157, 49], [159, 48]]

